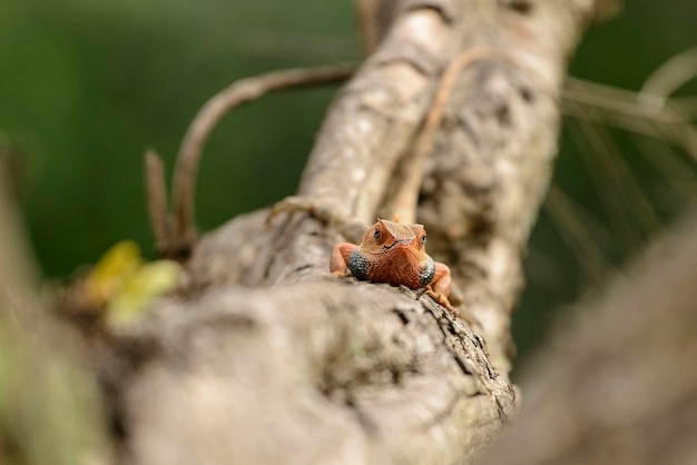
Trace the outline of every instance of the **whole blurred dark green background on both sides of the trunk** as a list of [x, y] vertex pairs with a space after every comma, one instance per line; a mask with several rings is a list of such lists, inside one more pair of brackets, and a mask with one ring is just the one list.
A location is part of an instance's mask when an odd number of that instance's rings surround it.
[[[629, 1], [590, 28], [571, 73], [638, 90], [697, 44], [696, 18], [694, 0]], [[122, 238], [151, 251], [143, 151], [155, 148], [170, 174], [195, 112], [229, 82], [357, 59], [350, 0], [0, 2], [0, 144], [21, 155], [21, 201], [45, 274], [68, 276]], [[332, 92], [275, 95], [224, 120], [198, 177], [202, 230], [295, 190]], [[611, 130], [598, 150], [587, 131], [565, 120], [554, 184], [566, 207], [543, 210], [530, 244], [514, 319], [523, 358], [560, 307], [601, 286], [695, 192], [695, 164], [676, 147]]]

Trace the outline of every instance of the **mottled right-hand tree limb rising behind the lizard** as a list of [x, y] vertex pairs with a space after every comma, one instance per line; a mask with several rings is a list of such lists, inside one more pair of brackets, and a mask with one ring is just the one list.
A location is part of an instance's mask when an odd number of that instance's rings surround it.
[[522, 254], [557, 151], [566, 62], [593, 14], [590, 2], [520, 3], [468, 10], [462, 43], [499, 52], [460, 73], [418, 212], [503, 369], [513, 354], [510, 311], [522, 286]]

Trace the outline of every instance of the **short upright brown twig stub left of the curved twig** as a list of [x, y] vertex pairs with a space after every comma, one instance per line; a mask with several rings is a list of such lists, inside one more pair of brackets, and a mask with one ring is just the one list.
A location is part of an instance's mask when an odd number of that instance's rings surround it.
[[169, 247], [170, 225], [167, 216], [167, 188], [165, 168], [157, 152], [145, 152], [145, 186], [150, 228], [155, 236], [155, 248], [161, 254]]

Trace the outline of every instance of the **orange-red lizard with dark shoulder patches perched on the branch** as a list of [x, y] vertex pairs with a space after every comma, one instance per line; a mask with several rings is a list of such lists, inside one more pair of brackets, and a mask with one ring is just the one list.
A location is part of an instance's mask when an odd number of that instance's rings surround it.
[[433, 260], [425, 249], [423, 225], [377, 219], [361, 245], [340, 243], [330, 258], [333, 276], [354, 276], [360, 280], [425, 288], [426, 294], [453, 315], [458, 309], [448, 300], [451, 288], [450, 268]]

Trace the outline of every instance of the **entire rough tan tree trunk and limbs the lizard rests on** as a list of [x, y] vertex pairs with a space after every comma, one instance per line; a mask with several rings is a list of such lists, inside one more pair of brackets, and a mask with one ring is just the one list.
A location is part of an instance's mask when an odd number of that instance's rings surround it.
[[[517, 407], [509, 326], [521, 255], [549, 182], [566, 62], [608, 3], [401, 2], [324, 121], [294, 204], [312, 215], [266, 227], [257, 211], [204, 236], [177, 297], [95, 350], [122, 457], [471, 462]], [[327, 276], [340, 231], [356, 239], [346, 225], [391, 216], [457, 59], [465, 65], [410, 214], [452, 266], [479, 335], [418, 293]]]

